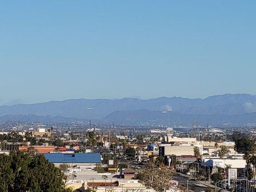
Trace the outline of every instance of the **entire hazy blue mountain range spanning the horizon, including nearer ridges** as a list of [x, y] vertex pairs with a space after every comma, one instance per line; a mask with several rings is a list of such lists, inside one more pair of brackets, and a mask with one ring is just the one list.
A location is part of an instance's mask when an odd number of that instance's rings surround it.
[[[93, 109], [87, 109], [93, 108]], [[214, 126], [242, 126], [256, 123], [256, 96], [225, 94], [205, 99], [159, 97], [155, 99], [69, 99], [37, 104], [0, 107], [0, 120], [42, 120], [51, 117], [57, 121], [93, 119], [120, 124], [186, 125], [194, 121]], [[21, 116], [17, 116], [21, 115]], [[31, 116], [35, 115], [35, 117]], [[8, 117], [8, 118], [7, 118]], [[44, 119], [47, 121], [47, 118]], [[22, 120], [23, 121], [23, 120]]]

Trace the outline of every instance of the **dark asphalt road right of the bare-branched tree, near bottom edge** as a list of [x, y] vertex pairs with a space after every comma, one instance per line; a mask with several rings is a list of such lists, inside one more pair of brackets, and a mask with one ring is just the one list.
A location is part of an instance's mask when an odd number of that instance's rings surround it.
[[[177, 175], [177, 174], [173, 176], [173, 180], [177, 180], [179, 182], [178, 185], [185, 188], [187, 188], [187, 180], [189, 179], [190, 178], [184, 177], [182, 175]], [[188, 188], [189, 190], [194, 192], [201, 192], [201, 190], [206, 189], [206, 186], [192, 179], [188, 181]]]

